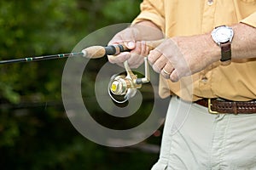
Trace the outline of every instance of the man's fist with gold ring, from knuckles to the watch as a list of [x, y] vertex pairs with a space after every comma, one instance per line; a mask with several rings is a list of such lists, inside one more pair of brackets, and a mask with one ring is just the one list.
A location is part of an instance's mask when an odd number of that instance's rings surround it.
[[210, 34], [166, 39], [148, 55], [154, 71], [172, 82], [205, 69], [219, 58], [220, 48]]

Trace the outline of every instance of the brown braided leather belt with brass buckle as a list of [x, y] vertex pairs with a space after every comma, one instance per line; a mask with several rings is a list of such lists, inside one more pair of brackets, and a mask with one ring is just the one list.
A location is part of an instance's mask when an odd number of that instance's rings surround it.
[[223, 99], [200, 99], [196, 104], [208, 108], [212, 114], [230, 113], [230, 114], [252, 114], [256, 113], [256, 100], [250, 101], [230, 101]]

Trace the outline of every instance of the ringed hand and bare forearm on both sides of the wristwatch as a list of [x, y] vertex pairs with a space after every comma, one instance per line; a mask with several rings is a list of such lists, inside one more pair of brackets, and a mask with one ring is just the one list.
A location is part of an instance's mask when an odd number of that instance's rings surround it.
[[[249, 59], [256, 57], [256, 29], [238, 23], [231, 26], [234, 31], [232, 41], [232, 59]], [[213, 42], [211, 33], [191, 36], [172, 37], [162, 42], [148, 55], [148, 61], [154, 71], [166, 79], [177, 82], [195, 72], [204, 70], [208, 65], [220, 59], [221, 52]]]

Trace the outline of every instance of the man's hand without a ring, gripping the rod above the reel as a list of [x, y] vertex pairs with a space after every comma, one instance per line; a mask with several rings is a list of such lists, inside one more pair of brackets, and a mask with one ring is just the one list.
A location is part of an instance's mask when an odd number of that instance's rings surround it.
[[108, 43], [108, 45], [124, 44], [125, 47], [129, 48], [131, 51], [123, 52], [118, 55], [108, 55], [108, 60], [110, 63], [118, 65], [123, 65], [125, 60], [128, 60], [128, 64], [131, 68], [137, 68], [139, 65], [143, 64], [143, 57], [149, 54], [148, 47], [144, 41], [160, 39], [162, 37], [163, 33], [152, 22], [140, 22], [135, 26], [120, 31]]

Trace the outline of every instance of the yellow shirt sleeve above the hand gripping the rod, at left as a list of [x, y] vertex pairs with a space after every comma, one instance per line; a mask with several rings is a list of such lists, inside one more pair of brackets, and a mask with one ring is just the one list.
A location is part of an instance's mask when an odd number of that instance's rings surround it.
[[133, 20], [132, 24], [136, 24], [143, 20], [150, 20], [156, 26], [165, 31], [165, 11], [162, 0], [143, 0], [141, 3], [141, 13]]

